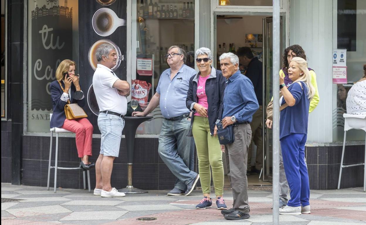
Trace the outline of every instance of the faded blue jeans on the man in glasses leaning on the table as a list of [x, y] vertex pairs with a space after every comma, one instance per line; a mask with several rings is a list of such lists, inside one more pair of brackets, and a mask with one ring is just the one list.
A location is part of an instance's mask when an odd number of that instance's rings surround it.
[[194, 139], [187, 137], [191, 121], [187, 118], [172, 121], [165, 119], [159, 136], [160, 158], [176, 176], [175, 187], [187, 190], [197, 173], [194, 168]]

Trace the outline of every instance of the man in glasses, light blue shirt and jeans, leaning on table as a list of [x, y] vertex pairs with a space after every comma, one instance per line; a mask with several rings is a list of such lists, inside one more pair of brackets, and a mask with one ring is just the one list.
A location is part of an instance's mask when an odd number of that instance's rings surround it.
[[144, 112], [133, 112], [132, 116], [146, 116], [159, 104], [164, 116], [159, 136], [158, 152], [169, 170], [177, 177], [173, 190], [168, 195], [189, 195], [196, 185], [199, 175], [194, 168], [194, 140], [187, 137], [191, 122], [186, 106], [189, 79], [197, 74], [184, 64], [186, 53], [180, 46], [168, 49], [165, 70], [159, 79], [156, 93]]

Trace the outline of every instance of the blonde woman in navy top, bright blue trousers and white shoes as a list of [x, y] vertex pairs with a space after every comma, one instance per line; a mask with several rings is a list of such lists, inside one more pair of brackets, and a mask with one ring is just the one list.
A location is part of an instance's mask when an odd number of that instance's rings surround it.
[[309, 175], [305, 162], [305, 143], [310, 100], [315, 88], [305, 59], [295, 57], [288, 68], [289, 78], [293, 81], [286, 86], [280, 76], [280, 89], [283, 95], [280, 104], [288, 107], [280, 115], [280, 142], [283, 163], [291, 199], [280, 209], [280, 214], [301, 215], [310, 213]]

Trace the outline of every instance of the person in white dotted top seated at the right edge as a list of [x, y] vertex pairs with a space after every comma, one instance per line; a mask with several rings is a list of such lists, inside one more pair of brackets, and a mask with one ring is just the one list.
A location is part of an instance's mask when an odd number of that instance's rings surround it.
[[366, 114], [366, 64], [363, 65], [363, 77], [348, 91], [347, 114]]

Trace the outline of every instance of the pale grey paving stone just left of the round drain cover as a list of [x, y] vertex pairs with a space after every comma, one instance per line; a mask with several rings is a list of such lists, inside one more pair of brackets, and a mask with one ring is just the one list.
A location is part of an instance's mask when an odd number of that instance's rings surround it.
[[60, 221], [67, 220], [117, 220], [128, 211], [104, 211], [104, 212], [73, 212], [62, 218]]

